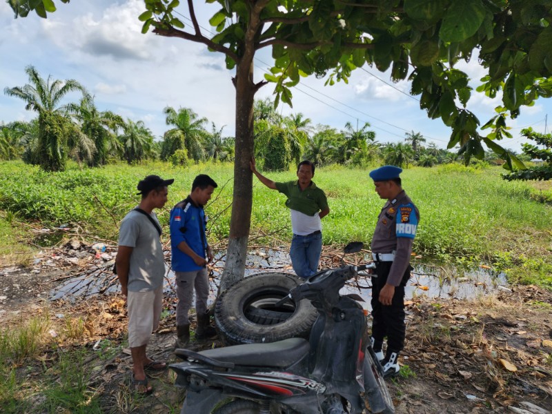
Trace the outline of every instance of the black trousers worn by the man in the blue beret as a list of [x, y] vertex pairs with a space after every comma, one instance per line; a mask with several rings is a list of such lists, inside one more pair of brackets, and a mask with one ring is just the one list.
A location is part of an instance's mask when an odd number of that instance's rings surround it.
[[372, 278], [372, 337], [376, 341], [383, 341], [387, 337], [387, 349], [396, 353], [404, 348], [404, 337], [406, 335], [406, 324], [404, 323], [404, 286], [410, 279], [411, 266], [401, 280], [401, 284], [395, 287], [395, 295], [391, 305], [383, 305], [380, 300], [380, 290], [387, 282], [387, 276], [393, 262], [377, 262], [375, 274]]

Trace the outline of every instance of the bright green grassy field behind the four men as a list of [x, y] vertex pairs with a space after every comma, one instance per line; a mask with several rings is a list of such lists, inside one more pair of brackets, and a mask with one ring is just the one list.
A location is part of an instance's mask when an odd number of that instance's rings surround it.
[[[529, 263], [529, 268], [542, 264], [546, 270], [552, 248], [552, 208], [531, 198], [538, 191], [531, 183], [504, 181], [500, 178], [502, 171], [458, 164], [405, 170], [403, 187], [422, 216], [415, 253], [450, 264], [493, 262], [504, 270], [527, 267]], [[115, 242], [119, 221], [139, 202], [139, 179], [148, 174], [175, 178], [169, 202], [159, 213], [161, 224], [166, 226], [170, 207], [188, 195], [199, 173], [210, 175], [219, 184], [206, 208], [212, 218], [210, 239], [217, 242], [228, 237], [233, 191], [230, 164], [198, 164], [186, 169], [160, 162], [117, 164], [95, 170], [73, 166], [66, 172], [46, 173], [21, 162], [3, 162], [0, 210], [12, 217], [12, 223], [68, 225], [79, 228], [82, 234]], [[275, 181], [295, 179], [295, 171], [266, 175]], [[326, 191], [331, 208], [323, 220], [324, 244], [370, 242], [384, 201], [374, 192], [368, 170], [319, 168], [314, 181]], [[288, 240], [291, 230], [284, 195], [255, 179], [253, 197], [252, 230], [275, 233]], [[164, 237], [168, 237], [168, 228], [165, 230]]]

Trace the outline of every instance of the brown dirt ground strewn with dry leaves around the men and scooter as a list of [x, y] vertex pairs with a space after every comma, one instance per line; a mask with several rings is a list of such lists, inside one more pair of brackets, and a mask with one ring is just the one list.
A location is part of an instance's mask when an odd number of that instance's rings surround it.
[[[67, 330], [80, 318], [81, 337], [64, 339], [60, 345], [90, 351], [85, 361], [92, 372], [89, 386], [100, 396], [106, 413], [178, 412], [175, 407], [181, 406], [184, 391], [173, 386], [171, 371], [152, 378], [152, 396], [136, 400], [128, 390], [128, 350], [118, 348], [114, 355], [104, 352], [107, 342], [124, 345], [126, 309], [121, 296], [110, 293], [75, 302], [48, 300], [52, 288], [101, 261], [82, 246], [66, 246], [63, 251], [44, 250], [28, 268], [0, 268], [4, 326], [48, 313], [50, 335], [55, 340], [56, 332]], [[175, 303], [174, 295], [166, 295], [169, 311]], [[388, 382], [396, 413], [552, 412], [551, 292], [517, 286], [511, 293], [471, 301], [417, 297], [408, 301], [407, 307], [402, 375]], [[151, 357], [176, 361], [172, 354], [174, 326], [174, 313], [166, 313], [148, 346]], [[212, 346], [221, 344], [190, 344], [195, 349]], [[41, 366], [54, 361], [39, 357], [36, 375]]]

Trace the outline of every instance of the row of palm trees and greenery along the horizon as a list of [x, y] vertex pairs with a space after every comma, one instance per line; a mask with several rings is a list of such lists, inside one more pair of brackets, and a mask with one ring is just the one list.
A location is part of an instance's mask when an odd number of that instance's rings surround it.
[[[233, 161], [234, 137], [225, 137], [223, 128], [199, 117], [191, 108], [166, 107], [168, 130], [156, 138], [143, 121], [97, 108], [94, 98], [81, 83], [43, 79], [29, 66], [29, 83], [6, 88], [8, 95], [21, 99], [26, 108], [37, 112], [30, 122], [0, 122], [0, 159], [23, 159], [45, 171], [62, 171], [67, 159], [98, 167], [108, 162], [137, 164], [161, 159], [186, 166], [192, 161]], [[81, 92], [78, 102], [62, 104], [71, 91]], [[404, 142], [377, 141], [369, 124], [342, 130], [326, 125], [313, 126], [311, 119], [297, 113], [283, 117], [269, 99], [256, 101], [255, 155], [265, 170], [287, 170], [300, 159], [317, 165], [365, 166], [376, 160], [398, 166], [431, 167], [454, 161], [457, 155], [437, 148], [420, 132], [407, 132]], [[496, 161], [496, 156], [488, 154]]]

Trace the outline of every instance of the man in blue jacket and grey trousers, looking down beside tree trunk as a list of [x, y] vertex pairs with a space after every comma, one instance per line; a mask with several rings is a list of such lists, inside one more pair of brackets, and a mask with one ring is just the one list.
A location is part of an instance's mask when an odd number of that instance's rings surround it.
[[170, 247], [172, 270], [177, 282], [177, 348], [190, 340], [188, 312], [192, 307], [195, 288], [197, 339], [207, 339], [216, 331], [210, 326], [207, 308], [209, 279], [207, 263], [213, 253], [206, 238], [207, 216], [204, 206], [210, 200], [217, 183], [205, 174], [195, 177], [192, 192], [170, 211]]

